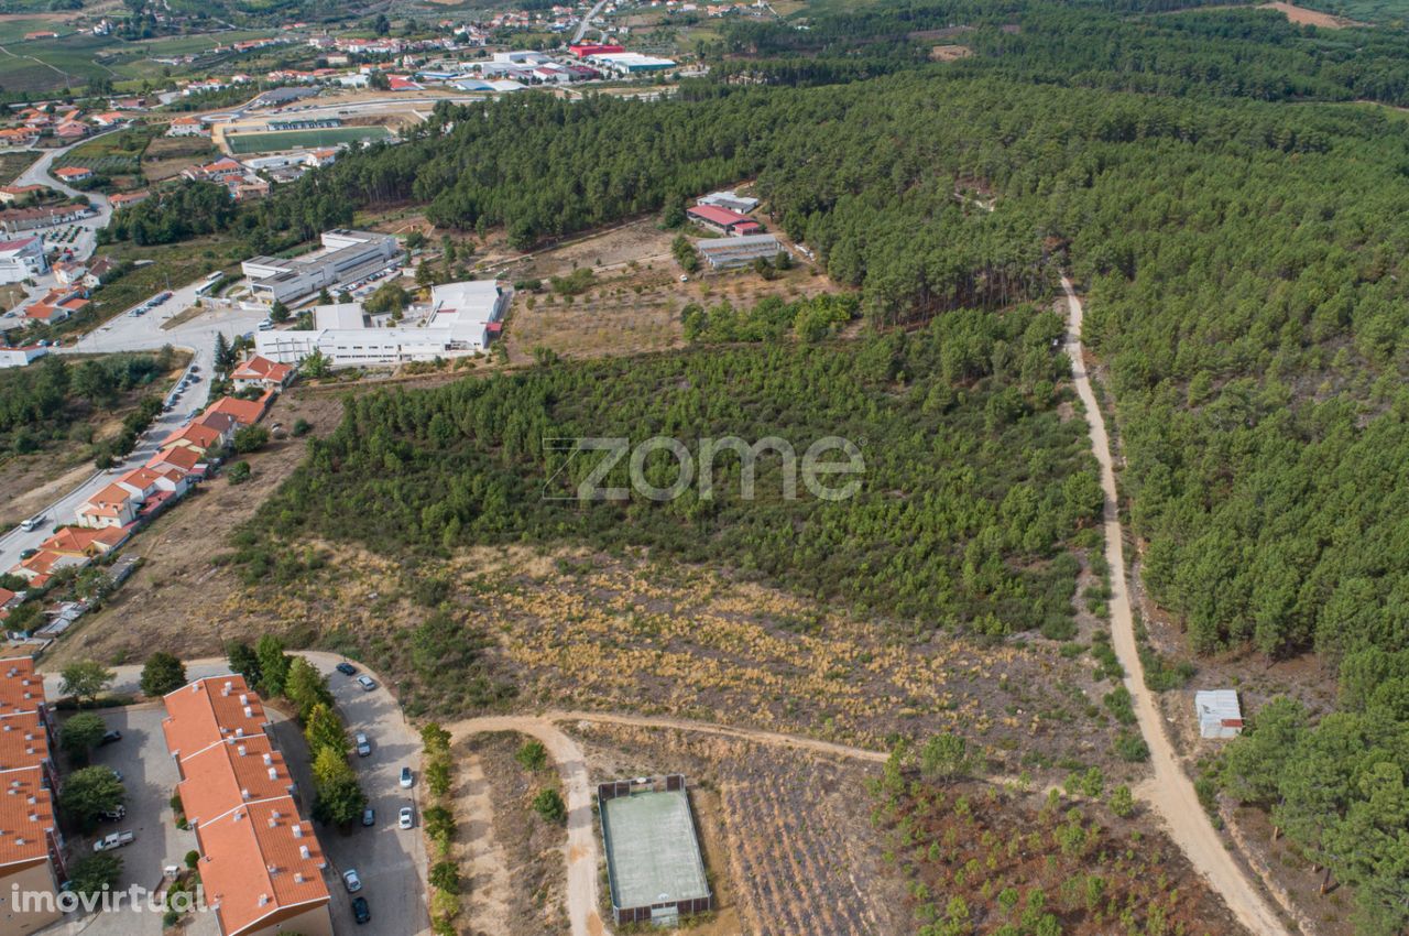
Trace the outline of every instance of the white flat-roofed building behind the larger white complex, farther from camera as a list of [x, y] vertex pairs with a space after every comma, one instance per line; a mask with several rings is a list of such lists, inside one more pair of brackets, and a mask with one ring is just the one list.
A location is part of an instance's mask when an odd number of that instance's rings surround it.
[[249, 279], [249, 292], [256, 299], [287, 303], [313, 295], [320, 289], [366, 279], [373, 273], [399, 265], [402, 245], [390, 234], [335, 230], [323, 233], [323, 248], [302, 257], [254, 257], [241, 264]]

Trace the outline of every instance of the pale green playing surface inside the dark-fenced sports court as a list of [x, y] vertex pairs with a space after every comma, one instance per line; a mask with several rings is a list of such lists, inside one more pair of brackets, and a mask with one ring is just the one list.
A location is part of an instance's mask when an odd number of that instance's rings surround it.
[[683, 789], [616, 796], [602, 803], [607, 880], [616, 906], [709, 897], [709, 880]]

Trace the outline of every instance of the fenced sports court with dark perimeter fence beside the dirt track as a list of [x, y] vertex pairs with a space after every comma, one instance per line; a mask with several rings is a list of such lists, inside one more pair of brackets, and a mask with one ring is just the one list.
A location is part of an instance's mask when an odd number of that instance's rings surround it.
[[683, 775], [602, 784], [597, 806], [617, 925], [675, 926], [713, 909]]

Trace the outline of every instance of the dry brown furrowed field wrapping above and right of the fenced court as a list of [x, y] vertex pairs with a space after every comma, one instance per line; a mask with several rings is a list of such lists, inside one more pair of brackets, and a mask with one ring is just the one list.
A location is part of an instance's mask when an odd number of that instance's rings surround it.
[[595, 782], [685, 774], [719, 909], [682, 932], [906, 932], [903, 888], [869, 822], [865, 782], [879, 775], [876, 764], [690, 732], [595, 723], [573, 732]]

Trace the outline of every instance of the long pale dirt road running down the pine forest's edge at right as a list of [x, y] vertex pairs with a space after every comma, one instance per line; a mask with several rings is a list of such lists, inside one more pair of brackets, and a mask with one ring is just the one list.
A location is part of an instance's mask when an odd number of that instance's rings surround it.
[[1106, 436], [1106, 423], [1096, 405], [1096, 395], [1091, 389], [1082, 355], [1081, 300], [1076, 299], [1071, 281], [1065, 276], [1062, 276], [1061, 288], [1067, 293], [1068, 310], [1065, 348], [1071, 357], [1076, 395], [1086, 410], [1091, 451], [1100, 464], [1100, 489], [1105, 493], [1106, 562], [1110, 565], [1110, 630], [1116, 655], [1126, 670], [1126, 688], [1134, 698], [1140, 733], [1150, 746], [1150, 764], [1154, 768], [1154, 777], [1143, 782], [1136, 794], [1164, 819], [1169, 837], [1179, 846], [1195, 870], [1203, 875], [1205, 881], [1223, 897], [1239, 922], [1258, 936], [1284, 936], [1288, 930], [1282, 920], [1262, 899], [1261, 891], [1233, 860], [1217, 832], [1213, 830], [1213, 825], [1193, 792], [1193, 784], [1179, 767], [1154, 696], [1146, 688], [1144, 665], [1140, 663], [1140, 653], [1136, 647], [1130, 592], [1126, 586], [1124, 543], [1110, 440]]

